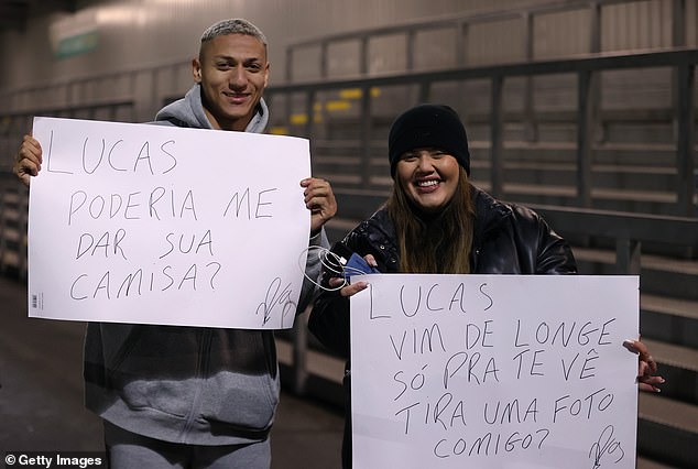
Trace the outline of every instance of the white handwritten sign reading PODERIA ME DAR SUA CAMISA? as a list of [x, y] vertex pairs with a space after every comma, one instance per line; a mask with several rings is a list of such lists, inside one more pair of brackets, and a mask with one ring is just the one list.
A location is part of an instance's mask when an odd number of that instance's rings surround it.
[[30, 316], [293, 326], [307, 140], [50, 118], [33, 132]]

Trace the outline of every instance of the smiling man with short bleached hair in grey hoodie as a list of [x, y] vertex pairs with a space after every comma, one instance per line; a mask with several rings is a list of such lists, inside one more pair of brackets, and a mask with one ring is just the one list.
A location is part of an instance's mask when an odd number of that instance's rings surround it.
[[[261, 133], [269, 121], [262, 98], [269, 69], [266, 39], [257, 26], [240, 19], [216, 23], [192, 61], [194, 86], [154, 123]], [[200, 157], [204, 171], [216, 171]], [[25, 135], [15, 175], [29, 185], [41, 163], [40, 143]], [[309, 244], [328, 247], [323, 226], [337, 211], [331, 187], [313, 177], [299, 184], [310, 210]], [[308, 255], [298, 313], [314, 296], [308, 279], [319, 269], [319, 259]], [[85, 388], [87, 407], [105, 419], [112, 468], [271, 465], [269, 432], [280, 391], [271, 330], [91, 323]]]

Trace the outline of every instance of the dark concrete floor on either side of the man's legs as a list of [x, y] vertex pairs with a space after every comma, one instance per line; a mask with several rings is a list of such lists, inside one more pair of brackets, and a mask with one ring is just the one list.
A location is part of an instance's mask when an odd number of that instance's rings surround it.
[[[101, 421], [83, 406], [83, 323], [26, 317], [25, 286], [0, 276], [0, 454], [100, 451]], [[340, 467], [339, 411], [283, 393], [272, 468]]]

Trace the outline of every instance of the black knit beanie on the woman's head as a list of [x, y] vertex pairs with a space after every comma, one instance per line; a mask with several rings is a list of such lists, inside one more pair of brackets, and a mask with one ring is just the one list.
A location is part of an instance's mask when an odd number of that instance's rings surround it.
[[466, 129], [455, 110], [440, 105], [415, 106], [395, 119], [388, 137], [390, 175], [395, 177], [395, 166], [403, 153], [428, 148], [452, 155], [470, 175]]

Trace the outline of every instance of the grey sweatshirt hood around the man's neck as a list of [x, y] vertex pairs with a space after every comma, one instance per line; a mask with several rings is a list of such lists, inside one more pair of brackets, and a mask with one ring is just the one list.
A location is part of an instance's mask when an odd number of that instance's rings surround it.
[[[262, 133], [269, 122], [269, 108], [264, 98], [257, 106], [257, 112], [244, 129], [246, 132]], [[163, 126], [189, 127], [195, 129], [212, 129], [204, 111], [201, 86], [195, 84], [184, 98], [165, 106], [155, 116], [155, 123]]]

